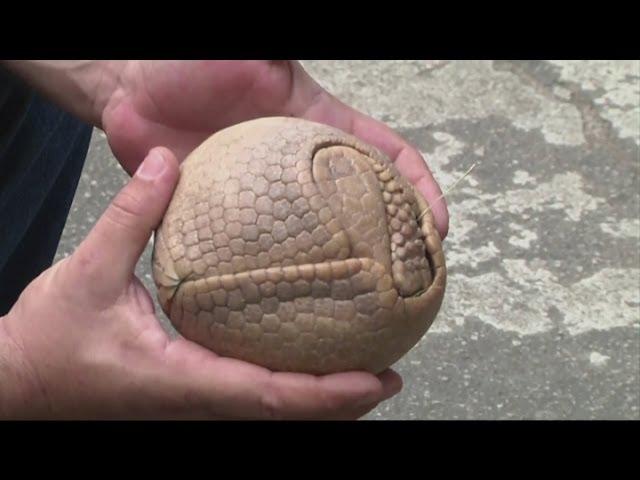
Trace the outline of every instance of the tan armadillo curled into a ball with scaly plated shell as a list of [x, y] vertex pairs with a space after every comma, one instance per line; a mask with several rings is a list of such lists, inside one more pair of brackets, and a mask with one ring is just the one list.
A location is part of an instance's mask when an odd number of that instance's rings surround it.
[[274, 371], [378, 373], [433, 322], [445, 290], [428, 205], [377, 149], [262, 118], [182, 163], [153, 278], [175, 328]]

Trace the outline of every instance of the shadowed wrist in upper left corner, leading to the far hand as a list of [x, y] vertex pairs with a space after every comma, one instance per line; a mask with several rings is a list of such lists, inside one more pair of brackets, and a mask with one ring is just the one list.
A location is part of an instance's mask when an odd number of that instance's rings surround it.
[[102, 113], [116, 92], [126, 62], [12, 60], [0, 64], [82, 120], [102, 128]]

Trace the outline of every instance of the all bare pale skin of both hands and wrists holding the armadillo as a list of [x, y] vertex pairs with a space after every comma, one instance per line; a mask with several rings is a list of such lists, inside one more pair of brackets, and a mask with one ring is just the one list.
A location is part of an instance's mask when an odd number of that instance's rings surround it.
[[444, 238], [446, 205], [435, 202], [440, 188], [415, 148], [332, 97], [297, 62], [3, 66], [103, 129], [133, 178], [74, 253], [0, 318], [0, 418], [356, 419], [400, 391], [392, 370], [274, 373], [171, 340], [134, 269], [171, 199], [179, 162], [221, 128], [292, 115], [353, 133], [386, 152], [432, 202]]

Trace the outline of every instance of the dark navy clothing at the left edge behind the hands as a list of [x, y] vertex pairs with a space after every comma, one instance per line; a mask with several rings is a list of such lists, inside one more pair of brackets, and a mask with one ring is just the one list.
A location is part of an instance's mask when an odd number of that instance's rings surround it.
[[91, 132], [0, 68], [0, 315], [53, 261]]

